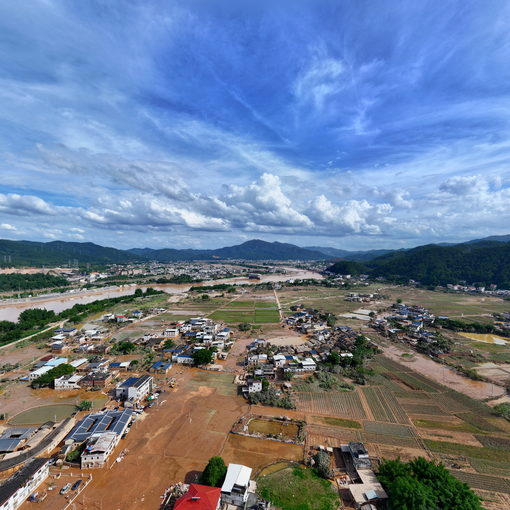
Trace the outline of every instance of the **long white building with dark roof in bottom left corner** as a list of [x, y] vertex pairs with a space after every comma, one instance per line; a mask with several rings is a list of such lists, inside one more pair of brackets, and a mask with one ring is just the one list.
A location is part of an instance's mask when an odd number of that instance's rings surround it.
[[0, 485], [0, 510], [16, 510], [21, 507], [48, 475], [48, 459], [36, 458], [25, 464]]

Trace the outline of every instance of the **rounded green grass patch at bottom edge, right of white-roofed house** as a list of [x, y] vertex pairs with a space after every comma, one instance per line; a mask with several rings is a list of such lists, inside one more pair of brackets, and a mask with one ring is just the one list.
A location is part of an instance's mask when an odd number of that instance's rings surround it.
[[333, 485], [309, 468], [287, 468], [257, 480], [257, 492], [281, 510], [335, 510]]

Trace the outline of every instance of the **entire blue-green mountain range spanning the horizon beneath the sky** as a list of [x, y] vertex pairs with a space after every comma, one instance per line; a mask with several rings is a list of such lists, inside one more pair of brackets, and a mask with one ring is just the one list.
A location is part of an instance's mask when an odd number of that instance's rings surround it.
[[412, 249], [348, 251], [332, 247], [299, 247], [261, 240], [211, 250], [133, 248], [118, 250], [94, 243], [0, 240], [1, 266], [125, 264], [193, 260], [335, 260], [332, 272], [369, 273], [391, 279], [414, 279], [436, 285], [466, 281], [510, 288], [510, 235], [460, 244], [429, 244]]

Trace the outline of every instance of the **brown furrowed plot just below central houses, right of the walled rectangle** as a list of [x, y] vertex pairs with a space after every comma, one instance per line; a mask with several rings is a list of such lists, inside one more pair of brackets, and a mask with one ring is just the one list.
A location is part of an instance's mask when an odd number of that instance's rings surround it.
[[297, 407], [300, 411], [347, 416], [366, 419], [359, 395], [354, 392], [330, 391], [329, 393], [297, 392]]

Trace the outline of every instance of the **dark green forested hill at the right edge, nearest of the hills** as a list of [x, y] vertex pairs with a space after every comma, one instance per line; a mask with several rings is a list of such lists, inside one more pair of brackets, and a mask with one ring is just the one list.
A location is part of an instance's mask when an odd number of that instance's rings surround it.
[[[383, 255], [366, 262], [365, 268], [371, 276], [412, 279], [425, 285], [465, 281], [510, 288], [510, 243], [429, 244]], [[336, 273], [345, 269], [335, 264], [329, 268]]]

